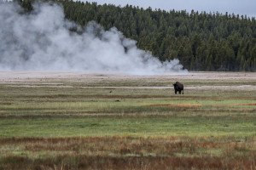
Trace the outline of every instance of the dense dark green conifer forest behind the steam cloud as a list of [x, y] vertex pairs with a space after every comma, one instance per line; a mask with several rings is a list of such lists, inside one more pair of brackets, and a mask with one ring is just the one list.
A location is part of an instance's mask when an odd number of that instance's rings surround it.
[[[19, 0], [32, 9], [31, 0]], [[189, 71], [256, 71], [256, 20], [243, 15], [125, 7], [54, 0], [80, 26], [115, 26], [160, 60], [179, 59]], [[51, 1], [52, 2], [52, 1]]]

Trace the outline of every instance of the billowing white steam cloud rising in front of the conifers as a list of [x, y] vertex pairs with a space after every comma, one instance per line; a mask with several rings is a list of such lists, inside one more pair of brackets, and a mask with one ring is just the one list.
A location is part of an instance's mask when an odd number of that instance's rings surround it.
[[31, 14], [20, 11], [14, 3], [0, 3], [0, 71], [186, 72], [177, 59], [161, 63], [116, 28], [104, 31], [90, 22], [82, 34], [71, 32], [79, 26], [67, 21], [57, 4], [36, 4]]

